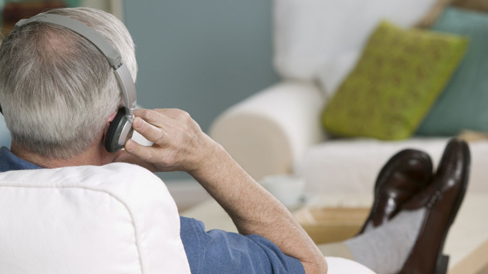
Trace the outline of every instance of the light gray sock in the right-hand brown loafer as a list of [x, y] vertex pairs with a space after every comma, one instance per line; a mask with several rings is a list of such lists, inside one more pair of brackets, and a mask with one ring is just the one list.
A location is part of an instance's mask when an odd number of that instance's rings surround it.
[[355, 261], [377, 274], [398, 273], [417, 240], [425, 213], [425, 208], [402, 211], [391, 221], [344, 243]]

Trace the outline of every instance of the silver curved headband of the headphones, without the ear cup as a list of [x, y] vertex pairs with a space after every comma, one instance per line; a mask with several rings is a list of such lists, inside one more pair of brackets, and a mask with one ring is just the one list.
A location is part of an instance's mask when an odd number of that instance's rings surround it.
[[29, 19], [22, 19], [15, 24], [14, 28], [18, 29], [26, 24], [38, 21], [65, 27], [90, 41], [100, 50], [100, 52], [102, 52], [103, 56], [105, 56], [110, 66], [113, 68], [115, 76], [119, 81], [124, 98], [125, 116], [127, 117], [127, 120], [132, 123], [137, 103], [136, 86], [129, 69], [122, 63], [122, 57], [115, 47], [102, 37], [98, 31], [88, 25], [78, 20], [57, 14], [40, 14]]

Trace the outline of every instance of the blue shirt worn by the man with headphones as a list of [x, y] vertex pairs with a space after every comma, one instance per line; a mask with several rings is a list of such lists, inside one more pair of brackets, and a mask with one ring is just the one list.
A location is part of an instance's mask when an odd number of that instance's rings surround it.
[[[0, 172], [41, 169], [0, 148]], [[206, 232], [203, 222], [180, 216], [181, 238], [192, 274], [305, 274], [302, 263], [258, 235]]]

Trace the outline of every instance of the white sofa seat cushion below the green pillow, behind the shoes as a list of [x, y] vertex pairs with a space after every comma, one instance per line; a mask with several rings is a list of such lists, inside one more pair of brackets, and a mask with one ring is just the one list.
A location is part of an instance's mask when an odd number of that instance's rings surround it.
[[[312, 193], [372, 193], [376, 176], [386, 161], [406, 148], [427, 152], [436, 166], [448, 138], [412, 138], [403, 141], [373, 139], [327, 140], [309, 148], [296, 163]], [[468, 192], [488, 192], [488, 141], [469, 144], [471, 169]]]

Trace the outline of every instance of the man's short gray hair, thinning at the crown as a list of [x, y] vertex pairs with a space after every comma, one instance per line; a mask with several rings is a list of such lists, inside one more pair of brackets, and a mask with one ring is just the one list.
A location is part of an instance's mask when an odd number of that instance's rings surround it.
[[[92, 8], [46, 13], [96, 29], [136, 80], [134, 42], [115, 16]], [[0, 105], [12, 141], [44, 157], [70, 158], [101, 136], [123, 98], [112, 68], [92, 43], [64, 27], [33, 22], [1, 44]]]

